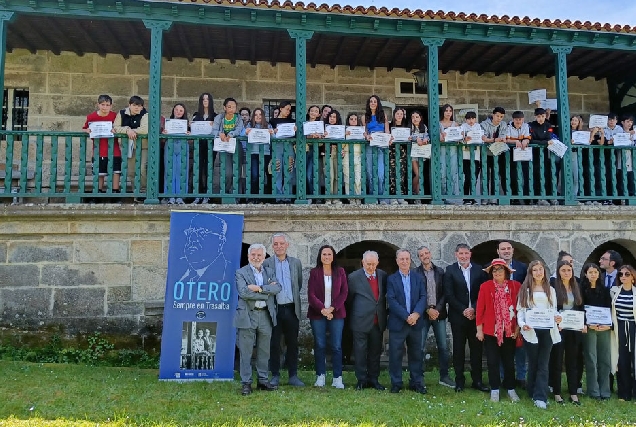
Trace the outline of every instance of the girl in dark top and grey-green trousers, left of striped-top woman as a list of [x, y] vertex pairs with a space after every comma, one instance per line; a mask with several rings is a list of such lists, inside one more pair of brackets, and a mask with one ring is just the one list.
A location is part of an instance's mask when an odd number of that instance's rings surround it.
[[[585, 264], [581, 271], [581, 295], [585, 307], [612, 306], [609, 288], [601, 281], [601, 268], [596, 264]], [[611, 366], [611, 325], [600, 325], [586, 319], [587, 334], [583, 335], [585, 357], [585, 380], [587, 395], [592, 399], [610, 398], [609, 375]]]

